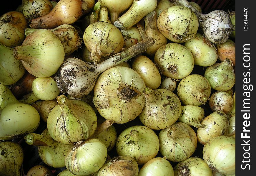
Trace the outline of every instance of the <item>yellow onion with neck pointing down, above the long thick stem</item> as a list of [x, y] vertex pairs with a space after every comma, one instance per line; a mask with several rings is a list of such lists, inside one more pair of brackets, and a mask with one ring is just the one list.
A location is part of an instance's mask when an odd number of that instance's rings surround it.
[[114, 25], [98, 21], [90, 24], [84, 31], [84, 44], [91, 52], [89, 59], [96, 63], [101, 56], [114, 55], [124, 46], [122, 33]]

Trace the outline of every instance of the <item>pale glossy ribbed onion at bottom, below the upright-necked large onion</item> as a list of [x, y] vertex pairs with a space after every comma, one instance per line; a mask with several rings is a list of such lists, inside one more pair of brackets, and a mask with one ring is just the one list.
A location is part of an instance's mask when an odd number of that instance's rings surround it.
[[98, 171], [107, 159], [106, 145], [99, 139], [77, 142], [69, 150], [65, 165], [75, 175], [89, 175]]

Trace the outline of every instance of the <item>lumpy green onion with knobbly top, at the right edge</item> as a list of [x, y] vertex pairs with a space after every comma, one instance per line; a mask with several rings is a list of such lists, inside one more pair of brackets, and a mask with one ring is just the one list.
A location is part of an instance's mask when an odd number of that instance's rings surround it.
[[230, 59], [221, 63], [215, 63], [205, 70], [205, 78], [209, 81], [212, 89], [227, 91], [235, 85], [235, 71]]

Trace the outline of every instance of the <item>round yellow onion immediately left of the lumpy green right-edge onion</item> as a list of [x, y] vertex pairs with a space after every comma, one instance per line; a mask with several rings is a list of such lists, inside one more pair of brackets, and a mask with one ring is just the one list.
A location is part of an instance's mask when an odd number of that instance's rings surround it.
[[188, 75], [179, 82], [177, 95], [184, 105], [201, 106], [210, 99], [211, 86], [202, 75]]

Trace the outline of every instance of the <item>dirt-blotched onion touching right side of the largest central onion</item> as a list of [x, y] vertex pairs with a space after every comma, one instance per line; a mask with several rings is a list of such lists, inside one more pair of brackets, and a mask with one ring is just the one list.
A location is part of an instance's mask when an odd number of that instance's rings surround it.
[[143, 90], [145, 106], [139, 120], [147, 127], [161, 130], [175, 123], [181, 113], [181, 103], [173, 92], [167, 89]]

